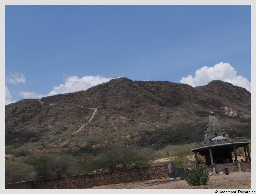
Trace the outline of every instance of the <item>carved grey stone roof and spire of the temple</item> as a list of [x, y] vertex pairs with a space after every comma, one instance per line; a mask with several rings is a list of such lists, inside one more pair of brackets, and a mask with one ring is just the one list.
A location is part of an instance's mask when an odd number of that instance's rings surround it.
[[250, 142], [248, 142], [246, 137], [235, 137], [234, 139], [230, 138], [228, 133], [224, 132], [224, 129], [221, 130], [221, 125], [218, 119], [215, 117], [214, 112], [210, 111], [204, 141], [195, 143], [192, 152], [196, 150], [207, 150], [209, 147], [233, 147], [234, 144], [236, 147], [241, 147], [249, 143]]

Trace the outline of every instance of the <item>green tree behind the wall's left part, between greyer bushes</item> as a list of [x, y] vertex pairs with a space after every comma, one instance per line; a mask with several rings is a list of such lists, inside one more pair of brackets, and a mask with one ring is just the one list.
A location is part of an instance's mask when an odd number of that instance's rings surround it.
[[40, 178], [46, 179], [51, 177], [51, 157], [48, 155], [26, 156], [25, 164], [31, 166], [30, 171], [37, 174]]

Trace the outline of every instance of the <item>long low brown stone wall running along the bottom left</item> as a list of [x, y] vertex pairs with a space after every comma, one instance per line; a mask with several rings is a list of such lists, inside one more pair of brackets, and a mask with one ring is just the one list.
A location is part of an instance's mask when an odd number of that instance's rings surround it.
[[168, 177], [168, 165], [98, 172], [5, 184], [5, 189], [83, 189]]

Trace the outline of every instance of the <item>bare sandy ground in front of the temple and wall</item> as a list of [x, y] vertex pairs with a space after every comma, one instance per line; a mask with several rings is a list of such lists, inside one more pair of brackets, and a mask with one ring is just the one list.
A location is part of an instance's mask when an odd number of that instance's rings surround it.
[[[251, 172], [231, 172], [229, 175], [211, 175], [208, 184], [190, 186], [186, 180], [168, 181], [169, 178], [120, 183], [92, 187], [89, 189], [251, 189]], [[255, 187], [253, 187], [255, 188]]]

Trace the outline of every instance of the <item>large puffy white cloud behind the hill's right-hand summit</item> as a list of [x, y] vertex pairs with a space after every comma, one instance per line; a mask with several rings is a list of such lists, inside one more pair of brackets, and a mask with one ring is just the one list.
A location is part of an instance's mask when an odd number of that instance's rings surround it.
[[182, 77], [180, 83], [186, 83], [192, 87], [207, 85], [212, 80], [222, 80], [224, 82], [232, 83], [233, 85], [240, 86], [251, 92], [251, 82], [241, 75], [236, 75], [237, 71], [229, 63], [219, 63], [214, 67], [201, 67], [196, 70], [195, 77], [188, 75]]

